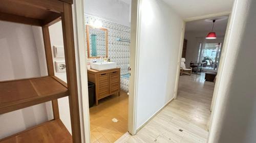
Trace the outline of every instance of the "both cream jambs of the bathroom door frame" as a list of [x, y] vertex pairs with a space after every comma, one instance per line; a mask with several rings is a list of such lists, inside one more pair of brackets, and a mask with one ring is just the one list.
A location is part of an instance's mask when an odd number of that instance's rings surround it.
[[[77, 76], [79, 87], [79, 108], [80, 108], [80, 121], [81, 121], [81, 136], [82, 142], [90, 142], [90, 112], [89, 112], [89, 98], [88, 98], [88, 77], [87, 77], [87, 58], [86, 58], [86, 32], [84, 24], [84, 1], [74, 1], [74, 13], [73, 17], [76, 18], [74, 26], [76, 26], [75, 32], [75, 44], [76, 55], [78, 55], [78, 60], [76, 62], [77, 66]], [[128, 132], [132, 135], [136, 134], [136, 110], [137, 110], [137, 84], [138, 84], [138, 44], [139, 43], [139, 6], [141, 1], [132, 1], [132, 14], [131, 14], [131, 77], [129, 85], [129, 112], [128, 112]], [[76, 23], [75, 23], [76, 22]]]

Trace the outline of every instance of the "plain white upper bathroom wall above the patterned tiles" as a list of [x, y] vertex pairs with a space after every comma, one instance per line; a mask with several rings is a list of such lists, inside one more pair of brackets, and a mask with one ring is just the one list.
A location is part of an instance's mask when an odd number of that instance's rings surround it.
[[131, 4], [120, 0], [85, 0], [84, 12], [121, 25], [131, 25]]

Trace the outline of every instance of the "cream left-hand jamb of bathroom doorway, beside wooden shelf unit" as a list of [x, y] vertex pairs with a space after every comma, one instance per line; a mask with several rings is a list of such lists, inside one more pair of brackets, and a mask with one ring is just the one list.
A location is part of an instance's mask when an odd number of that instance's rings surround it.
[[77, 67], [78, 101], [81, 124], [81, 142], [90, 142], [90, 113], [88, 98], [87, 58], [85, 45], [84, 1], [74, 1], [73, 21]]

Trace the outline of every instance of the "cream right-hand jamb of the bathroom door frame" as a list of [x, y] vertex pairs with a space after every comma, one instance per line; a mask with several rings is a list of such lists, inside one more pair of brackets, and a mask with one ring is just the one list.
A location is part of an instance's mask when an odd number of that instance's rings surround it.
[[[131, 76], [129, 80], [128, 132], [132, 135], [137, 131], [137, 95], [140, 50], [141, 0], [132, 1], [131, 10]], [[138, 55], [138, 56], [137, 56]]]

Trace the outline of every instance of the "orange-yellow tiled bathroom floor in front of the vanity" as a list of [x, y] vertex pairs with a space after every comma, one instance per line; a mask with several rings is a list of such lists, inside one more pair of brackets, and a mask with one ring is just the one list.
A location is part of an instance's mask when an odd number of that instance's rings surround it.
[[[113, 122], [116, 118], [118, 122]], [[127, 132], [128, 96], [112, 95], [90, 108], [91, 142], [115, 142]]]

